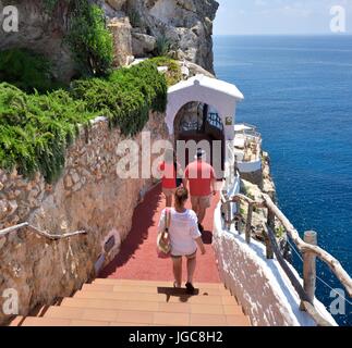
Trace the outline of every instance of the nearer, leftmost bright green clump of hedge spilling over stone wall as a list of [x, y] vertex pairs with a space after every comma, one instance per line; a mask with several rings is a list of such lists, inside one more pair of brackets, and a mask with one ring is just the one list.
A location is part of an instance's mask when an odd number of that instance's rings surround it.
[[68, 92], [26, 95], [0, 84], [0, 167], [31, 176], [39, 171], [51, 183], [64, 166], [66, 147], [78, 124], [95, 114]]

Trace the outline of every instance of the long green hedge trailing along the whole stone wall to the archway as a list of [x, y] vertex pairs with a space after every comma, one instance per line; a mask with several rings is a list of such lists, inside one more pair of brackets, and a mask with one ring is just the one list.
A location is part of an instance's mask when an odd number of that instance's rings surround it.
[[65, 149], [78, 124], [105, 115], [124, 135], [135, 135], [148, 121], [150, 109], [166, 110], [167, 83], [157, 66], [145, 62], [121, 69], [107, 78], [73, 83], [46, 95], [27, 95], [0, 84], [0, 167], [16, 167], [29, 176], [39, 171], [48, 183], [64, 167]]

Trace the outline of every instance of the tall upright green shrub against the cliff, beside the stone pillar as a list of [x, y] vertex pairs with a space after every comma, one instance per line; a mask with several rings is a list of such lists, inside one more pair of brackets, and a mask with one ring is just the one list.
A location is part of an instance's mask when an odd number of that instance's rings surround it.
[[104, 10], [88, 0], [71, 1], [66, 41], [83, 76], [104, 76], [112, 66], [112, 34]]

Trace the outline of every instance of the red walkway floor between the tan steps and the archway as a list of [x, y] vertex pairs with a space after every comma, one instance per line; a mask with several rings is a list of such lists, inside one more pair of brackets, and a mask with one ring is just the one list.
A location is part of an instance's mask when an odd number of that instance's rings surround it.
[[[218, 199], [213, 200], [204, 222], [204, 243], [206, 254], [198, 254], [195, 283], [219, 283], [215, 254], [211, 248], [211, 232], [214, 210]], [[172, 261], [157, 257], [156, 239], [157, 225], [165, 199], [161, 188], [157, 186], [149, 191], [144, 201], [136, 208], [133, 216], [132, 229], [121, 246], [118, 257], [99, 274], [99, 277], [139, 279], [139, 281], [173, 281]], [[185, 262], [183, 263], [183, 278], [185, 281]]]

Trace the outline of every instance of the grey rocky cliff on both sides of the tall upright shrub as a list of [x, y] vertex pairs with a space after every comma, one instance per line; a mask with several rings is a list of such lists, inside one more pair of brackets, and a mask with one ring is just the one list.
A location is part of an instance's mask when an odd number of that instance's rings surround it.
[[[92, 0], [104, 8], [114, 40], [114, 65], [131, 63], [133, 57], [157, 54], [157, 41], [166, 38], [174, 58], [186, 59], [207, 71], [213, 69], [213, 21], [215, 0]], [[61, 80], [75, 74], [75, 63], [64, 36], [69, 9], [59, 0], [53, 12], [44, 0], [9, 0], [19, 9], [17, 33], [0, 30], [0, 50], [21, 47], [52, 60], [53, 73]]]

